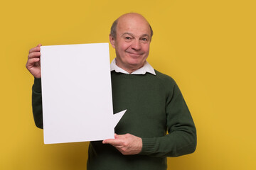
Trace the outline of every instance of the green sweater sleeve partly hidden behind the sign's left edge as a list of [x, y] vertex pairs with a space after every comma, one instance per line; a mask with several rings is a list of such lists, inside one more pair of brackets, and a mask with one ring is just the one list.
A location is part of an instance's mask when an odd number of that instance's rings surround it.
[[32, 110], [36, 127], [43, 129], [41, 79], [34, 79], [32, 87]]

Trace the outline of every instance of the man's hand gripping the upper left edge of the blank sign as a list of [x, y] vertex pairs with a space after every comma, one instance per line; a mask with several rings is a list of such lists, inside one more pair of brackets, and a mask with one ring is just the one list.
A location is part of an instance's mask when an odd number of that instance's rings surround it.
[[39, 44], [36, 47], [31, 48], [28, 53], [28, 61], [26, 63], [26, 68], [33, 75], [33, 77], [41, 78], [41, 62], [40, 62], [40, 47]]

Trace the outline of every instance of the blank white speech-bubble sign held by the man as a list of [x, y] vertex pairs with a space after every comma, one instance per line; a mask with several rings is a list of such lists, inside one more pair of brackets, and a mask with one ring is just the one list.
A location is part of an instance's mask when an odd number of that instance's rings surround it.
[[114, 138], [108, 43], [41, 46], [45, 144]]

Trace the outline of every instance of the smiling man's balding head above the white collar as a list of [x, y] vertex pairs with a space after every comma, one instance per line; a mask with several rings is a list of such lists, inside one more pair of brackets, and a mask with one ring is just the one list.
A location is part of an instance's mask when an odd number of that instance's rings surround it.
[[110, 43], [116, 50], [117, 66], [131, 73], [143, 67], [149, 55], [153, 30], [138, 13], [127, 13], [114, 21]]

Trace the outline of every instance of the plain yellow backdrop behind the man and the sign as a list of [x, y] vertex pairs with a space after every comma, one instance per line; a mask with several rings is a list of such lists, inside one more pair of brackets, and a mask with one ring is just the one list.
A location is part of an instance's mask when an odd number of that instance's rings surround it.
[[0, 169], [86, 169], [87, 142], [43, 144], [28, 50], [108, 42], [127, 12], [151, 23], [148, 61], [176, 79], [198, 130], [196, 152], [168, 158], [169, 169], [256, 169], [255, 8], [253, 0], [1, 1]]

